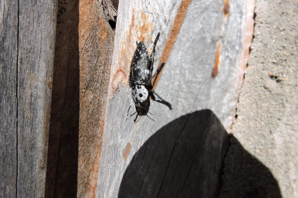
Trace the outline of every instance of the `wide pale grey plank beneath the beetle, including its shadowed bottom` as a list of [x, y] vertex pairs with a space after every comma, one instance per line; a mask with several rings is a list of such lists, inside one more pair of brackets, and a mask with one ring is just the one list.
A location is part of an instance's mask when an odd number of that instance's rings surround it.
[[[127, 80], [136, 40], [151, 49], [161, 33], [155, 70], [180, 2], [119, 2], [96, 197], [214, 197], [218, 192], [246, 66], [244, 43], [251, 41], [251, 1], [230, 1], [228, 13], [223, 1], [191, 1], [156, 88], [173, 110], [151, 100], [154, 115], [148, 115], [155, 121], [142, 116], [135, 124], [129, 116], [135, 112]], [[216, 57], [218, 73], [212, 77]]]

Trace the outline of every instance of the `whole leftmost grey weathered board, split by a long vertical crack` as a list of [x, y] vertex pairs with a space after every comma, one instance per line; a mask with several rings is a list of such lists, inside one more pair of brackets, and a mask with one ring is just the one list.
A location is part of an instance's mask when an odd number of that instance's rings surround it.
[[54, 2], [1, 1], [1, 197], [42, 197]]

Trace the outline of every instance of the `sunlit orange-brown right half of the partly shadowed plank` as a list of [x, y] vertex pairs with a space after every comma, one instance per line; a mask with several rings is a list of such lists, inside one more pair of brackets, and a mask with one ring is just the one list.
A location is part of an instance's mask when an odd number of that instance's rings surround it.
[[80, 117], [77, 197], [95, 197], [114, 33], [105, 20], [101, 1], [82, 0], [79, 12]]

